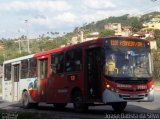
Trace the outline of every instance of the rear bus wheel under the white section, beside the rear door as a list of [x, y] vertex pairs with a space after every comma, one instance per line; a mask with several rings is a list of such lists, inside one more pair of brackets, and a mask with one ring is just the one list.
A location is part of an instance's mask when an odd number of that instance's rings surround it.
[[22, 106], [23, 108], [29, 108], [30, 107], [30, 103], [29, 103], [29, 95], [27, 91], [24, 91], [22, 93]]

